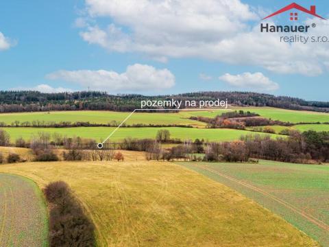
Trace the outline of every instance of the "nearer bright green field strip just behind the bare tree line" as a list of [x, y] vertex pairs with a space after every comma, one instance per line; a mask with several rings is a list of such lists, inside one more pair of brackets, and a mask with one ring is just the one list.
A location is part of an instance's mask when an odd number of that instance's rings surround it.
[[[84, 137], [95, 139], [96, 141], [103, 141], [114, 130], [114, 127], [77, 127], [77, 128], [1, 128], [10, 134], [11, 140], [14, 141], [19, 137], [29, 140], [38, 132], [48, 132], [53, 134], [58, 132], [66, 137]], [[178, 138], [182, 140], [204, 139], [205, 141], [234, 141], [239, 140], [241, 136], [246, 134], [256, 134], [247, 130], [232, 130], [232, 129], [201, 129], [201, 128], [119, 128], [115, 132], [110, 141], [119, 141], [121, 139], [132, 137], [137, 139], [155, 138], [158, 130], [169, 130], [171, 139]], [[265, 133], [257, 133], [260, 135], [268, 135]], [[271, 137], [278, 137], [277, 134], [271, 134]], [[281, 136], [282, 137], [282, 136]]]

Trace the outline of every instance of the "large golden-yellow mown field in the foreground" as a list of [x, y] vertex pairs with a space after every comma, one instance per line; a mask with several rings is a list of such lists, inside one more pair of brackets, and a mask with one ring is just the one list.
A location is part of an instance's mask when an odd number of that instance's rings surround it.
[[64, 180], [95, 222], [99, 246], [319, 246], [252, 200], [173, 163], [22, 163], [0, 172], [40, 187]]

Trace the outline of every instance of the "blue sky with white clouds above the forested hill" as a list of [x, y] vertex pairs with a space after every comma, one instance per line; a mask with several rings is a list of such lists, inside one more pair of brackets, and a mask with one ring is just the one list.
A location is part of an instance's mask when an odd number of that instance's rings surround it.
[[[295, 1], [329, 18], [329, 2]], [[329, 42], [284, 43], [260, 23], [329, 21], [298, 10], [262, 19], [292, 1], [0, 1], [0, 89], [97, 90], [144, 95], [255, 91], [329, 101]], [[298, 21], [290, 21], [297, 12]]]

